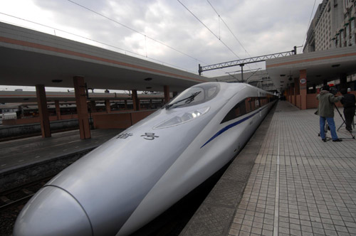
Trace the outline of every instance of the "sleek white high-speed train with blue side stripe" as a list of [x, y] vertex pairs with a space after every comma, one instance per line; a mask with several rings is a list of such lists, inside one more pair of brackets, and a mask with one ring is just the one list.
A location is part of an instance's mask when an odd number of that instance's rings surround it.
[[130, 235], [231, 161], [275, 101], [244, 83], [184, 90], [46, 183], [14, 235]]

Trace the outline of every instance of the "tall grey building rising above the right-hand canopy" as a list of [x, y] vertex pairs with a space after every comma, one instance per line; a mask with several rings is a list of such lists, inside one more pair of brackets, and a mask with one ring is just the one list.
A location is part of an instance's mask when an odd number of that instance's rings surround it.
[[356, 0], [323, 0], [307, 33], [303, 53], [356, 45]]

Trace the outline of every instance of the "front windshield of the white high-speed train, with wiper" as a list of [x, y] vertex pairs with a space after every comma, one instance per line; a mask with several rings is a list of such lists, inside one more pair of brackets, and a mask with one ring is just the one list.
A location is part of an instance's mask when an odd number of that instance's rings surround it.
[[219, 90], [220, 85], [216, 83], [195, 85], [194, 87], [189, 87], [189, 89], [184, 90], [180, 95], [174, 98], [172, 102], [165, 105], [164, 108], [190, 107], [196, 104], [201, 104], [213, 99], [218, 94]]

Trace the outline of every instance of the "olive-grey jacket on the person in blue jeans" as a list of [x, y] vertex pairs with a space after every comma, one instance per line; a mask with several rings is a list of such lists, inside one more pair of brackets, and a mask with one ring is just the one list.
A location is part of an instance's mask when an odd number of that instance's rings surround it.
[[323, 90], [316, 96], [319, 100], [318, 115], [320, 117], [334, 117], [334, 103], [339, 102], [342, 97], [335, 97], [327, 90]]

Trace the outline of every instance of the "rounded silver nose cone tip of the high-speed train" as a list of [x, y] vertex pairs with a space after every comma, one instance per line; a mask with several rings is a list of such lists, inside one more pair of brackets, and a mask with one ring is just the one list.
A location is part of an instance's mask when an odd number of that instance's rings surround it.
[[46, 186], [25, 205], [15, 222], [14, 236], [93, 235], [90, 220], [69, 193]]

